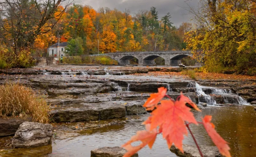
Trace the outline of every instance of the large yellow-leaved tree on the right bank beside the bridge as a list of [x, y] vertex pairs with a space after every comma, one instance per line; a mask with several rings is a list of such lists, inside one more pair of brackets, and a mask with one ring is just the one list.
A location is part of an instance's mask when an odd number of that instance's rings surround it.
[[200, 0], [199, 3], [203, 7], [188, 9], [195, 29], [186, 33], [187, 48], [198, 58], [204, 58], [209, 70], [236, 68], [255, 73], [255, 0]]

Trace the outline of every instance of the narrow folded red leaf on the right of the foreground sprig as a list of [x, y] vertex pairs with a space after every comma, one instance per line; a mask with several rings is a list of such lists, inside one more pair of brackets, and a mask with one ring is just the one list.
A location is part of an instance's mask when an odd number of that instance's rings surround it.
[[202, 120], [206, 132], [211, 137], [213, 143], [218, 147], [220, 153], [226, 157], [231, 157], [229, 153], [230, 148], [228, 146], [228, 142], [222, 139], [222, 137], [214, 129], [214, 124], [210, 122], [212, 120], [212, 116], [206, 115], [204, 118], [202, 118]]

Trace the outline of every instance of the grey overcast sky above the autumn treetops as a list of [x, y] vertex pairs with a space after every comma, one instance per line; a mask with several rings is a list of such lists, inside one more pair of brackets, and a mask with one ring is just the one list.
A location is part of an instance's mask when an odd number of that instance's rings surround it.
[[[118, 9], [124, 11], [129, 9], [133, 15], [139, 10], [150, 10], [150, 7], [156, 7], [158, 17], [161, 19], [167, 12], [170, 12], [172, 18], [171, 22], [174, 26], [180, 25], [182, 22], [189, 21], [188, 11], [182, 7], [187, 7], [184, 2], [186, 0], [81, 0], [83, 4], [92, 6], [95, 10], [100, 7], [109, 7], [110, 9]], [[188, 0], [192, 6], [197, 5], [199, 0]], [[181, 6], [181, 7], [180, 7]]]

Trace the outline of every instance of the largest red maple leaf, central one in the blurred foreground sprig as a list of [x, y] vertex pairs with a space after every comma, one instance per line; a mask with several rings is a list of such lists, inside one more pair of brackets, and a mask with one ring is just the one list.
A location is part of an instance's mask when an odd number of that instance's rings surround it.
[[[196, 119], [193, 113], [190, 112], [191, 109], [186, 106], [186, 103], [193, 104], [182, 93], [175, 102], [172, 100], [162, 100], [161, 105], [158, 105], [156, 110], [152, 111], [152, 116], [149, 119], [151, 121], [150, 129], [160, 126], [160, 130], [163, 132], [163, 138], [166, 139], [169, 148], [174, 143], [181, 152], [183, 152], [183, 135], [188, 135], [186, 125], [184, 124], [185, 121], [197, 125]], [[196, 109], [200, 111], [197, 107]]]

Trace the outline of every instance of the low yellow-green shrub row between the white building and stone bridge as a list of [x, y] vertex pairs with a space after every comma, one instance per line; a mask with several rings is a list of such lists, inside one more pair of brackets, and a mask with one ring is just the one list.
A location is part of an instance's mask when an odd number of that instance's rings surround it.
[[108, 56], [67, 56], [62, 58], [64, 64], [103, 64], [117, 65], [118, 62]]

